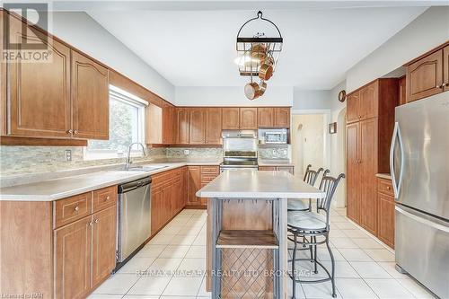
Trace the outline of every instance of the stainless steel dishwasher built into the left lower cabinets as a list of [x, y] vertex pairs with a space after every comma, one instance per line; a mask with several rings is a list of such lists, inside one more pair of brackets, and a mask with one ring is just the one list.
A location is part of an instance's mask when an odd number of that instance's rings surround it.
[[117, 267], [118, 270], [151, 234], [151, 178], [119, 185]]

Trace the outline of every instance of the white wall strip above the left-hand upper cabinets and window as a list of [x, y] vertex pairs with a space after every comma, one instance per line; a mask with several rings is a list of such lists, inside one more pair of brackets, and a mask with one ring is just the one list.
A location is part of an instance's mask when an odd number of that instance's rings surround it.
[[119, 73], [174, 102], [174, 86], [87, 13], [53, 13], [53, 33]]

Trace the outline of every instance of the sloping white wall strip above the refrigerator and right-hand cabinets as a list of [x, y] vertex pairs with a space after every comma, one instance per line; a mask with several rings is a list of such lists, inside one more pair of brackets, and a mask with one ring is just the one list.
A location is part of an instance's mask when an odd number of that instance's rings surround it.
[[449, 7], [427, 9], [347, 72], [347, 92], [390, 73], [449, 40]]

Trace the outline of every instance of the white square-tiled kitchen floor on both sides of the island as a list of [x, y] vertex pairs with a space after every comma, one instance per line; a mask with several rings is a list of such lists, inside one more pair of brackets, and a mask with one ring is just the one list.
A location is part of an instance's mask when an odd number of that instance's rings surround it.
[[[349, 222], [345, 209], [333, 210], [330, 221], [339, 298], [434, 298], [413, 279], [398, 273], [393, 251]], [[325, 247], [318, 249], [318, 257], [330, 267]], [[311, 264], [298, 266], [308, 270]], [[205, 268], [206, 211], [183, 210], [89, 299], [210, 298], [205, 289]], [[137, 272], [145, 270], [144, 275]], [[322, 277], [321, 272], [313, 277]], [[287, 286], [291, 292], [291, 280]], [[332, 298], [330, 293], [330, 282], [297, 284], [298, 298]]]

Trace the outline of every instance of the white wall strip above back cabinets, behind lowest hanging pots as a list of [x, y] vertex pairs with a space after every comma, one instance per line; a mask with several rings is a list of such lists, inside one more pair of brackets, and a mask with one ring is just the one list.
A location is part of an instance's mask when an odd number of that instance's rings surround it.
[[176, 87], [179, 106], [292, 106], [293, 88], [269, 86], [260, 98], [250, 101], [243, 86]]

